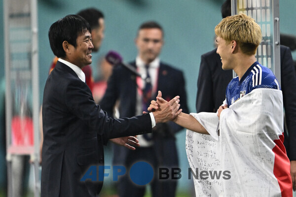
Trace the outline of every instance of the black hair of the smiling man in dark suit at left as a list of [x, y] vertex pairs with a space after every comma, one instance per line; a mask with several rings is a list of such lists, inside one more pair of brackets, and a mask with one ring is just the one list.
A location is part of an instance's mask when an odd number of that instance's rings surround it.
[[76, 39], [85, 32], [91, 33], [87, 21], [78, 15], [67, 15], [64, 18], [53, 23], [48, 31], [50, 48], [58, 58], [65, 57], [66, 52], [63, 48], [63, 42], [67, 41], [76, 47]]

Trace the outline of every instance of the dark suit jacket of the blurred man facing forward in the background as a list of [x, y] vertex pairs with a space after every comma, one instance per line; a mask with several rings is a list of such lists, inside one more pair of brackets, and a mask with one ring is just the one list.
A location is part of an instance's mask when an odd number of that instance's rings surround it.
[[[135, 62], [130, 65], [136, 67]], [[185, 92], [185, 80], [183, 72], [166, 64], [160, 63], [156, 90], [162, 92], [162, 98], [166, 100], [180, 96], [180, 104], [183, 112], [188, 112]], [[123, 66], [116, 66], [108, 81], [108, 87], [100, 105], [113, 114], [116, 100], [119, 100], [120, 117], [132, 117], [136, 113], [137, 83], [136, 76]], [[156, 95], [152, 98], [156, 99]], [[153, 129], [153, 148], [158, 161], [166, 166], [177, 166], [178, 156], [174, 134], [183, 129], [173, 122], [157, 124]], [[114, 164], [124, 164], [130, 150], [114, 146]]]

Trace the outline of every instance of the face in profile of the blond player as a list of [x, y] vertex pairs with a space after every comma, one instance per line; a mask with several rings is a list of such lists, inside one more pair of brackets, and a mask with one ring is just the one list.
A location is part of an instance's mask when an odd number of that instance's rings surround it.
[[221, 62], [222, 62], [222, 69], [223, 70], [229, 70], [232, 69], [231, 67], [231, 47], [232, 44], [231, 42], [227, 42], [226, 40], [222, 39], [221, 37], [217, 37], [216, 39], [217, 43], [217, 53], [221, 57]]

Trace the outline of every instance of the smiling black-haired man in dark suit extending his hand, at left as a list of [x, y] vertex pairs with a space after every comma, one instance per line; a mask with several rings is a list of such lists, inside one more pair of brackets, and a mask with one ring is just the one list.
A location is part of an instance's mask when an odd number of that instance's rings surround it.
[[[91, 64], [91, 29], [80, 16], [68, 15], [49, 29], [50, 47], [59, 60], [47, 78], [42, 104], [42, 197], [96, 197], [103, 181], [81, 181], [90, 165], [104, 165], [103, 145], [137, 146], [129, 135], [150, 132], [154, 124], [180, 114], [179, 97], [165, 110], [112, 119], [102, 111], [81, 68]], [[123, 137], [129, 136], [129, 137]]]

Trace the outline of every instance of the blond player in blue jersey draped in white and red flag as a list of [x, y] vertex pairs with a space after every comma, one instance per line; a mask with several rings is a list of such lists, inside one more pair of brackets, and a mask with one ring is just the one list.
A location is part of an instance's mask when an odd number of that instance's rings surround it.
[[[202, 165], [214, 166], [213, 171], [222, 171], [224, 176], [217, 180], [207, 176], [207, 182], [197, 176], [195, 188], [214, 187], [211, 195], [219, 197], [292, 197], [290, 162], [283, 145], [282, 91], [272, 71], [255, 57], [262, 39], [260, 27], [251, 17], [239, 14], [222, 19], [215, 33], [222, 69], [233, 69], [237, 77], [228, 84], [217, 113], [181, 113], [174, 120], [191, 130], [187, 131], [190, 140], [186, 147], [194, 172], [203, 167], [196, 159], [200, 156], [194, 156], [194, 141], [202, 136], [199, 133], [210, 134], [216, 143], [212, 149], [215, 162]], [[158, 110], [157, 102], [165, 102], [161, 94], [149, 110]]]

